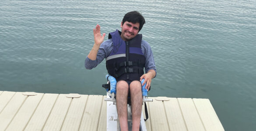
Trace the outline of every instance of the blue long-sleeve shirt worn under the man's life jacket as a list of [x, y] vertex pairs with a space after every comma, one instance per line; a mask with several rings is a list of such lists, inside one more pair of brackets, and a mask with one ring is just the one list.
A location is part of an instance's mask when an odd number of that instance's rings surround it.
[[[85, 62], [84, 62], [84, 67], [86, 69], [95, 68], [99, 63], [102, 62], [103, 59], [105, 59], [109, 56], [112, 49], [113, 49], [112, 39], [102, 42], [102, 44], [100, 45], [100, 48], [98, 50], [96, 60], [91, 60], [88, 57], [86, 57]], [[149, 44], [147, 43], [147, 41], [144, 41], [144, 40], [141, 41], [141, 50], [146, 58], [145, 72], [147, 73], [149, 70], [153, 69], [155, 71], [155, 76], [156, 76], [157, 72], [156, 72], [156, 67], [154, 64], [153, 52], [152, 52]]]

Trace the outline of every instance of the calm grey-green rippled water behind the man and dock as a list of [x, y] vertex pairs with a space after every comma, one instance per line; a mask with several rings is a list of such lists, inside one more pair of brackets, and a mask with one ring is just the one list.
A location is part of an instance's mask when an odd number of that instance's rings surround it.
[[149, 96], [209, 98], [226, 131], [255, 131], [255, 1], [134, 1], [1, 0], [0, 90], [105, 95], [105, 61], [84, 68], [92, 29], [139, 10], [158, 72]]

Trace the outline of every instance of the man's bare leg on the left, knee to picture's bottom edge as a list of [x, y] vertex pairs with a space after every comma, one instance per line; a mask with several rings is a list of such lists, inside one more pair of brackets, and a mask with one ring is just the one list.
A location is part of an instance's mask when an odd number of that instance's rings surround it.
[[127, 122], [127, 97], [129, 86], [126, 81], [119, 81], [116, 84], [116, 108], [119, 117], [121, 131], [128, 131]]

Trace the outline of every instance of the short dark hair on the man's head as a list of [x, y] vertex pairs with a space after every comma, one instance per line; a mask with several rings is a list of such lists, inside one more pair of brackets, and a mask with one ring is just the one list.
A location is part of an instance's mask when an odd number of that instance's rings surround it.
[[123, 17], [123, 24], [125, 21], [132, 22], [133, 24], [139, 22], [140, 23], [139, 31], [141, 30], [143, 25], [146, 23], [144, 17], [138, 11], [131, 11], [126, 13]]

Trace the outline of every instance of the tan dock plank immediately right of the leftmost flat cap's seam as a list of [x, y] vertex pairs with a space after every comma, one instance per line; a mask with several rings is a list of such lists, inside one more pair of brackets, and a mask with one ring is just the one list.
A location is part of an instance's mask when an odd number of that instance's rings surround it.
[[43, 93], [37, 93], [35, 96], [29, 96], [26, 101], [21, 106], [18, 113], [15, 115], [14, 119], [9, 124], [6, 131], [22, 131], [28, 124], [29, 119], [38, 106], [40, 100], [42, 99]]

